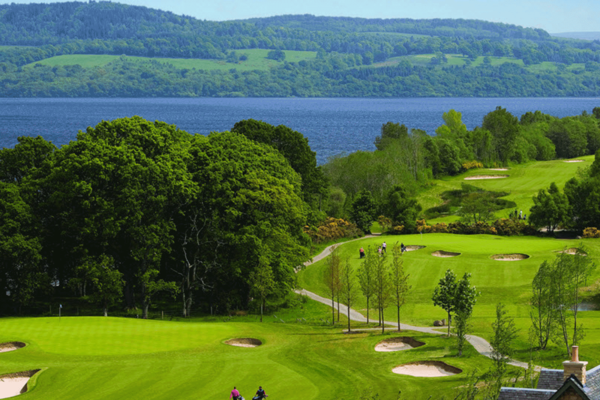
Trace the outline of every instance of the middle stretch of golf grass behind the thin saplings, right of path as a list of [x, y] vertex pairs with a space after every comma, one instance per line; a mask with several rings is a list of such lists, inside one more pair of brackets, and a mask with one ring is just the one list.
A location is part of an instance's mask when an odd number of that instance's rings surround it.
[[[403, 261], [407, 273], [410, 274], [412, 290], [406, 305], [401, 309], [401, 320], [404, 323], [418, 326], [431, 326], [434, 320], [445, 318], [445, 311], [434, 307], [431, 294], [446, 269], [452, 269], [458, 276], [463, 273], [472, 273], [471, 282], [475, 285], [481, 296], [473, 311], [473, 333], [488, 340], [491, 338], [491, 323], [495, 317], [496, 303], [503, 302], [507, 305], [509, 315], [515, 318], [520, 336], [517, 347], [520, 349], [518, 356], [527, 361], [527, 329], [529, 329], [529, 297], [533, 276], [539, 264], [550, 260], [559, 251], [566, 247], [577, 246], [583, 242], [589, 248], [590, 257], [598, 263], [600, 258], [600, 241], [596, 239], [559, 240], [542, 237], [503, 237], [492, 235], [453, 235], [453, 234], [420, 234], [403, 236], [382, 236], [364, 239], [359, 242], [346, 243], [340, 246], [341, 257], [350, 257], [354, 267], [358, 267], [359, 246], [379, 246], [383, 240], [388, 243], [388, 249], [394, 242], [403, 242], [404, 245], [427, 246], [417, 251], [404, 253]], [[431, 252], [445, 250], [460, 252], [458, 257], [439, 258], [433, 257]], [[496, 261], [490, 258], [493, 254], [524, 253], [530, 255], [527, 260]], [[299, 272], [299, 285], [307, 290], [314, 291], [327, 297], [328, 290], [324, 283], [325, 260], [319, 261], [307, 269]], [[600, 270], [596, 270], [589, 284], [598, 281]], [[597, 290], [597, 289], [596, 289]], [[595, 295], [595, 291], [584, 292], [587, 296]], [[361, 296], [354, 307], [366, 314], [366, 301]], [[376, 311], [371, 309], [371, 315], [376, 316]], [[581, 323], [588, 330], [587, 336], [581, 345], [580, 354], [591, 366], [600, 363], [600, 313], [598, 311], [581, 312]], [[395, 320], [395, 308], [386, 309], [386, 320]], [[542, 365], [559, 368], [563, 361], [562, 348], [552, 347], [552, 350], [541, 353], [539, 362]]]

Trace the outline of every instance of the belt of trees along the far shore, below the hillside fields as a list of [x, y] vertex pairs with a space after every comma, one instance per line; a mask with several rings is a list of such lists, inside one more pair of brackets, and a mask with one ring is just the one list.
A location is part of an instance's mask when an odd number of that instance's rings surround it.
[[[122, 56], [109, 64], [0, 62], [4, 97], [595, 97], [600, 67], [532, 73], [506, 62], [477, 67], [410, 66], [360, 68], [360, 56], [323, 55], [281, 62], [270, 70], [176, 68], [165, 60]], [[597, 64], [597, 65], [596, 65]]]

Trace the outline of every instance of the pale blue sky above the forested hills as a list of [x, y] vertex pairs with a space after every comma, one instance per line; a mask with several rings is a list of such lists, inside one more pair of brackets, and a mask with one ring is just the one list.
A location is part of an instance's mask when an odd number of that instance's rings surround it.
[[[37, 0], [34, 2], [56, 2]], [[61, 0], [58, 0], [61, 1]], [[29, 3], [0, 0], [0, 4]], [[503, 22], [549, 33], [598, 32], [600, 0], [122, 0], [214, 21], [313, 14], [363, 18], [464, 18]]]

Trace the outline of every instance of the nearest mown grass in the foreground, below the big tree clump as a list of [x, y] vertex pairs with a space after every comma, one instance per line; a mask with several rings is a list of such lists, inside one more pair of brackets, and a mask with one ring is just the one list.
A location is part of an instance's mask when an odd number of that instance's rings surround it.
[[[328, 313], [324, 305], [317, 305]], [[452, 339], [405, 331], [418, 348], [374, 350], [379, 333], [345, 335], [341, 326], [295, 323], [205, 323], [131, 318], [4, 318], [0, 341], [19, 338], [25, 348], [1, 353], [0, 374], [38, 369], [28, 399], [211, 399], [237, 386], [250, 399], [259, 385], [272, 398], [334, 399], [370, 390], [381, 398], [427, 399], [431, 387], [452, 392], [469, 372], [490, 367], [472, 348], [446, 363], [463, 373], [439, 378], [397, 375], [392, 369], [453, 353]], [[364, 326], [364, 324], [362, 324]], [[256, 348], [224, 343], [234, 337], [262, 341]], [[395, 397], [394, 397], [395, 398]]]

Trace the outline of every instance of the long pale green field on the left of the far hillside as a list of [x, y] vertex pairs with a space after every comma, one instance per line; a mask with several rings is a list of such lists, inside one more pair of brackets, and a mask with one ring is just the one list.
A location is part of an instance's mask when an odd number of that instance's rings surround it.
[[[235, 68], [238, 71], [251, 71], [251, 70], [268, 70], [275, 65], [281, 64], [281, 62], [267, 59], [266, 56], [270, 50], [265, 49], [242, 49], [235, 50], [238, 56], [246, 55], [248, 59], [246, 61], [240, 61], [237, 64], [232, 62], [226, 62], [224, 60], [211, 60], [211, 59], [196, 59], [196, 58], [148, 58], [148, 57], [135, 57], [125, 56], [128, 60], [154, 60], [163, 62], [164, 64], [172, 64], [176, 68], [196, 68], [197, 70], [221, 70], [229, 71]], [[286, 53], [286, 61], [298, 62], [305, 59], [316, 58], [316, 52], [300, 52], [295, 50], [284, 50]], [[56, 67], [57, 65], [81, 65], [83, 68], [102, 67], [103, 65], [109, 64], [109, 62], [115, 61], [121, 56], [117, 55], [85, 55], [85, 54], [73, 54], [73, 55], [62, 55], [43, 59], [41, 61], [32, 62], [31, 64], [25, 65], [25, 67], [33, 67], [35, 64], [49, 65], [50, 67]]]

